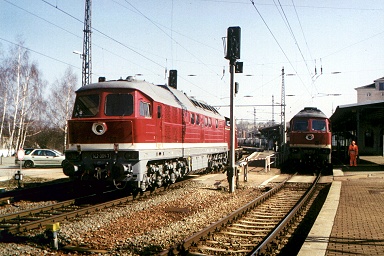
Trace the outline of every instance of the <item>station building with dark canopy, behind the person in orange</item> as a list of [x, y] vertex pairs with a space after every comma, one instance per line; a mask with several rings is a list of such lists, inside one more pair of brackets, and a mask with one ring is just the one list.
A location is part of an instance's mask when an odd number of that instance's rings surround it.
[[330, 117], [332, 156], [347, 159], [352, 140], [359, 146], [359, 155], [384, 156], [384, 77], [355, 90], [357, 103], [338, 106]]

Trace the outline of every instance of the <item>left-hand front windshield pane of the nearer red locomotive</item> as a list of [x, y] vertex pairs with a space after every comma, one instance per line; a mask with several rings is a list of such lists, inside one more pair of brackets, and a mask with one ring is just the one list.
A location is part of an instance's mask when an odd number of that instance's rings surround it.
[[82, 95], [76, 98], [73, 117], [92, 117], [99, 112], [99, 95]]

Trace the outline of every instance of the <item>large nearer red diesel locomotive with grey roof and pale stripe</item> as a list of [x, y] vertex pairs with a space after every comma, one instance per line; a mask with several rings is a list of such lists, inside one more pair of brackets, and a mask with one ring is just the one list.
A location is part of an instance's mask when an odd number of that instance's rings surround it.
[[174, 183], [227, 163], [227, 123], [176, 86], [100, 78], [76, 91], [63, 172], [142, 191]]

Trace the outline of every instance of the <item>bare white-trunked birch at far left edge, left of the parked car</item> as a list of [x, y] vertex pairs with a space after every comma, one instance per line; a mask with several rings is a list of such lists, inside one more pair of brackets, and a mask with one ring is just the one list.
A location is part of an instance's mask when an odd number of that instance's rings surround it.
[[[39, 70], [36, 64], [31, 64], [29, 52], [20, 42], [11, 48], [8, 57], [4, 59], [0, 69], [4, 78], [1, 88], [4, 90], [2, 105], [2, 126], [8, 123], [8, 152], [12, 153], [24, 147], [31, 122], [39, 121], [41, 109], [44, 104], [42, 90], [44, 83], [39, 79]], [[6, 68], [5, 68], [6, 67]], [[4, 136], [4, 128], [1, 130]], [[36, 131], [34, 131], [36, 132]]]

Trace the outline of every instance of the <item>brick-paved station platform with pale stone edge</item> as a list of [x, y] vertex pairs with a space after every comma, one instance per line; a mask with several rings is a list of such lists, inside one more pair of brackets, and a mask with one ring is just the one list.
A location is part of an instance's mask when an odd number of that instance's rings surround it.
[[384, 157], [337, 166], [326, 202], [299, 255], [384, 255]]

